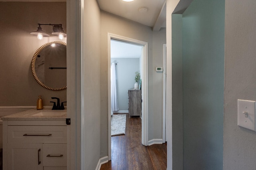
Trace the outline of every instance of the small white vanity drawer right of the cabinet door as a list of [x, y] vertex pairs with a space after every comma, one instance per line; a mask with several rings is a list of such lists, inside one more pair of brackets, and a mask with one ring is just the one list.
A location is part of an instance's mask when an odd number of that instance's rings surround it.
[[43, 144], [43, 166], [67, 166], [67, 144]]

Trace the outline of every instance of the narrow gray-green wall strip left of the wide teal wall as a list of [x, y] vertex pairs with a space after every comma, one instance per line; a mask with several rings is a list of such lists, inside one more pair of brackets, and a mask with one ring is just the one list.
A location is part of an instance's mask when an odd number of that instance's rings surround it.
[[174, 170], [183, 168], [182, 14], [172, 15], [172, 155]]

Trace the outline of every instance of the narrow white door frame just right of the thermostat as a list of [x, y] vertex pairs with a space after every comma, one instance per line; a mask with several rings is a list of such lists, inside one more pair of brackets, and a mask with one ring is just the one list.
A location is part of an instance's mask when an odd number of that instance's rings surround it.
[[166, 43], [163, 45], [163, 143], [166, 142]]

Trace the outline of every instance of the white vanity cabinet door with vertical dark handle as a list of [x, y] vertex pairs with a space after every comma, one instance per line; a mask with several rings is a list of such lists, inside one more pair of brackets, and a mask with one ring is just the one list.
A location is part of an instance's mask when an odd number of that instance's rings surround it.
[[8, 144], [8, 170], [43, 170], [41, 161], [42, 144]]

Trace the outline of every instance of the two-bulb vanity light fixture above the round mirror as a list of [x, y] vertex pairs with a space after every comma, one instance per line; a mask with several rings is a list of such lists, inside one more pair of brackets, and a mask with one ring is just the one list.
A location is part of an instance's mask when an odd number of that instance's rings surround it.
[[38, 24], [37, 30], [35, 32], [30, 32], [30, 34], [37, 36], [38, 40], [42, 40], [43, 37], [49, 37], [49, 35], [42, 30], [41, 25], [52, 26], [52, 35], [58, 36], [60, 40], [63, 40], [64, 37], [67, 37], [67, 34], [62, 28], [62, 24]]

